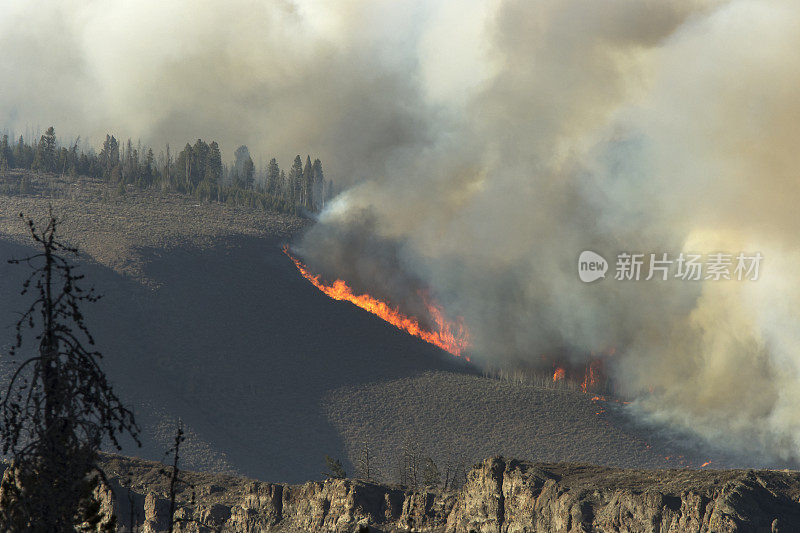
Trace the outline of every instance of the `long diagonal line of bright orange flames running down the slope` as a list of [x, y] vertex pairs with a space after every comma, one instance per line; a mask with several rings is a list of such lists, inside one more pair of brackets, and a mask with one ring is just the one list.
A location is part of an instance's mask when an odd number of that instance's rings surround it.
[[[469, 347], [469, 332], [463, 323], [450, 322], [445, 318], [442, 309], [433, 302], [428, 301], [426, 298], [425, 306], [430, 314], [433, 322], [436, 325], [435, 331], [428, 331], [419, 325], [419, 321], [414, 318], [401, 313], [397, 308], [392, 308], [388, 303], [373, 298], [368, 294], [357, 295], [353, 290], [347, 286], [341, 279], [337, 279], [331, 285], [322, 283], [320, 276], [312, 274], [308, 268], [291, 253], [289, 248], [284, 246], [283, 253], [292, 260], [297, 267], [297, 270], [311, 282], [316, 288], [324, 292], [334, 300], [346, 300], [358, 307], [369, 311], [370, 313], [379, 316], [386, 322], [392, 324], [398, 329], [406, 331], [425, 342], [429, 342], [438, 346], [442, 350], [446, 350], [456, 357], [461, 357], [463, 350]], [[469, 357], [466, 358], [469, 361]]]

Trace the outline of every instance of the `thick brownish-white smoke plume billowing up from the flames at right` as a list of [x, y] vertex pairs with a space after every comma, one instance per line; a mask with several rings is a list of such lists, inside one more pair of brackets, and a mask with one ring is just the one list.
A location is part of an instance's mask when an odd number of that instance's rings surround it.
[[[465, 318], [477, 358], [615, 348], [615, 384], [643, 416], [796, 460], [798, 15], [789, 2], [500, 2], [490, 75], [456, 133], [348, 191], [303, 250], [313, 261], [318, 235], [371, 208], [370, 232], [402, 242], [400, 268]], [[766, 259], [756, 282], [585, 285], [586, 249]]]

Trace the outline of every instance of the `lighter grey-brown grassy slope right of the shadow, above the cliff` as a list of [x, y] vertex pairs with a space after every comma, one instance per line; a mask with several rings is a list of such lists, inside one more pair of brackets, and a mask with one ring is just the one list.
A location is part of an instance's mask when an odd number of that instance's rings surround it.
[[437, 464], [497, 454], [638, 468], [698, 466], [706, 459], [651, 442], [629, 423], [621, 404], [545, 385], [427, 372], [338, 389], [323, 406], [350, 461], [357, 462], [366, 440], [389, 474], [409, 439]]

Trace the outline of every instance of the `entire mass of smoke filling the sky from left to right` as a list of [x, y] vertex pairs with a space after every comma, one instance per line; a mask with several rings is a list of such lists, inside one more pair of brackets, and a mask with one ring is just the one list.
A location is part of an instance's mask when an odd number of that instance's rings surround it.
[[[797, 458], [796, 3], [41, 4], [0, 17], [6, 126], [317, 154], [351, 187], [314, 269], [427, 287], [491, 364], [615, 348], [643, 416]], [[765, 260], [586, 285], [586, 249]]]

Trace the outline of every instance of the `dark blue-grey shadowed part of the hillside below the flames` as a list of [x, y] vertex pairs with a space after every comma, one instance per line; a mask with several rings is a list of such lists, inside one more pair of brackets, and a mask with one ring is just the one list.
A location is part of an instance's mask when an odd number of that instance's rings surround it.
[[[3, 257], [27, 251], [0, 246]], [[87, 309], [88, 323], [109, 375], [146, 426], [146, 456], [160, 457], [171, 421], [181, 418], [196, 441], [188, 464], [287, 481], [317, 477], [325, 454], [343, 456], [322, 405], [329, 391], [463, 367], [322, 295], [274, 241], [232, 238], [161, 257], [153, 251], [150, 259], [145, 271], [157, 289], [98, 265], [83, 268], [105, 294]], [[24, 305], [14, 297], [19, 273], [0, 271], [3, 324]], [[12, 335], [5, 329], [5, 342]]]

